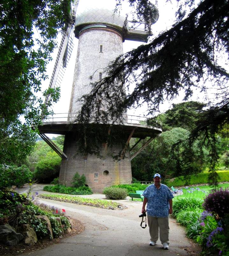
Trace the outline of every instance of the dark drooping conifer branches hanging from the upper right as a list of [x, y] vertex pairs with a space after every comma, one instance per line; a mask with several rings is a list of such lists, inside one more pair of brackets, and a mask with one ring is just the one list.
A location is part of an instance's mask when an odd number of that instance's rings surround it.
[[[185, 93], [184, 100], [192, 96], [194, 89], [205, 93], [207, 99], [207, 85], [211, 84], [215, 90], [214, 103], [208, 100], [199, 113], [187, 144], [191, 150], [200, 137], [203, 145], [211, 146], [209, 182], [216, 185], [216, 133], [229, 122], [229, 1], [203, 0], [198, 5], [193, 0], [176, 2], [179, 5], [176, 22], [170, 29], [148, 44], [119, 56], [105, 69], [106, 77], [91, 83], [92, 91], [83, 97], [78, 120], [122, 123], [126, 109], [142, 102], [147, 103], [148, 113], [155, 115], [165, 99], [175, 99], [181, 90]], [[139, 4], [149, 1], [129, 3], [136, 4], [136, 13], [142, 13]], [[129, 89], [132, 84], [136, 85], [134, 90], [125, 96], [124, 86]], [[98, 99], [106, 105], [106, 113], [97, 110]], [[187, 156], [190, 161], [192, 157], [192, 154]]]

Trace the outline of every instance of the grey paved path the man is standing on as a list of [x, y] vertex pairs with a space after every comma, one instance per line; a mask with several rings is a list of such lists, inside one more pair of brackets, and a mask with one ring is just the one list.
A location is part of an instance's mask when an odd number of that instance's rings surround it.
[[[18, 190], [23, 191], [24, 188]], [[34, 185], [33, 193], [42, 192], [41, 185]], [[104, 198], [103, 194], [84, 197]], [[128, 206], [125, 210], [108, 210], [85, 205], [76, 205], [48, 199], [39, 199], [48, 205], [65, 208], [66, 215], [80, 220], [85, 230], [73, 237], [62, 239], [55, 244], [21, 256], [152, 256], [152, 255], [199, 255], [198, 246], [185, 237], [184, 229], [170, 218], [169, 250], [158, 245], [149, 246], [148, 227], [140, 227], [142, 203], [140, 201], [120, 200]], [[18, 254], [19, 255], [19, 254]]]

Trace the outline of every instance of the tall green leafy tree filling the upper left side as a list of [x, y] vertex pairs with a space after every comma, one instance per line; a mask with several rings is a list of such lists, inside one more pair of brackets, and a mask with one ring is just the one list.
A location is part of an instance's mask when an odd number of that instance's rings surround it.
[[[0, 4], [0, 163], [15, 163], [32, 152], [41, 124], [60, 90], [38, 96], [57, 33], [69, 21], [70, 0], [3, 0]], [[41, 93], [40, 93], [41, 94]], [[23, 123], [20, 116], [23, 116]], [[36, 131], [36, 130], [35, 130]], [[36, 131], [37, 132], [37, 131]], [[15, 146], [14, 146], [15, 145]]]

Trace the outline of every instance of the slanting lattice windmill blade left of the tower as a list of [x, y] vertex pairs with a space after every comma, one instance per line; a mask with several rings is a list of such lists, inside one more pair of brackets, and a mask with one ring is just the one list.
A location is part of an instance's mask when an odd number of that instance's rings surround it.
[[[67, 67], [68, 61], [70, 59], [70, 56], [73, 50], [73, 39], [74, 39], [73, 27], [75, 23], [75, 14], [76, 14], [78, 4], [79, 4], [79, 0], [76, 0], [74, 2], [73, 11], [71, 15], [72, 22], [68, 24], [67, 29], [62, 34], [61, 43], [58, 49], [53, 73], [52, 73], [48, 88], [55, 88], [56, 85], [57, 86], [61, 85], [61, 81], [63, 79], [65, 69]], [[46, 105], [49, 98], [50, 96], [47, 96], [45, 99]]]

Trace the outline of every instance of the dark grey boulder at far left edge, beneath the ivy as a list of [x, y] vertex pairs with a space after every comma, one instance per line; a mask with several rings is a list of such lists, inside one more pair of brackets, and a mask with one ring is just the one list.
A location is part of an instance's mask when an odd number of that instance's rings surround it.
[[0, 242], [14, 246], [23, 239], [23, 235], [17, 233], [9, 224], [0, 225]]

